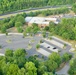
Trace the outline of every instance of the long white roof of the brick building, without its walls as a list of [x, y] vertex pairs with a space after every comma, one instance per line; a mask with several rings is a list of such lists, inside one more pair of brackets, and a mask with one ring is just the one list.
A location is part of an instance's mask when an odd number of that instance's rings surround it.
[[26, 17], [25, 21], [28, 23], [49, 24], [50, 21], [56, 22], [57, 18], [44, 18], [44, 17]]

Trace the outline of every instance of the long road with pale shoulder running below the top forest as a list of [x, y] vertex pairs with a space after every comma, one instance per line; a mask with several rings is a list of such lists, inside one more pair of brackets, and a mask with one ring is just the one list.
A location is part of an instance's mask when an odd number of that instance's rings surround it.
[[67, 8], [71, 8], [71, 5], [59, 5], [59, 6], [45, 6], [45, 7], [41, 7], [41, 8], [29, 8], [29, 9], [25, 9], [25, 10], [19, 10], [19, 11], [14, 11], [14, 12], [9, 12], [6, 14], [1, 14], [0, 15], [0, 20], [4, 19], [4, 18], [8, 18], [11, 16], [15, 16], [17, 14], [21, 14], [23, 12], [28, 13], [28, 12], [33, 12], [33, 11], [42, 11], [42, 10], [47, 10], [47, 9], [57, 9], [57, 8], [61, 8], [61, 7], [67, 7]]

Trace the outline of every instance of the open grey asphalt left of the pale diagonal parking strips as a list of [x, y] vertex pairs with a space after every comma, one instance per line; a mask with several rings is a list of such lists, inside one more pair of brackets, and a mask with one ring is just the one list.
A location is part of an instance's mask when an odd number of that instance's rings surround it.
[[[2, 49], [0, 50], [0, 53], [5, 53], [6, 49], [18, 49], [18, 48], [24, 48], [28, 56], [33, 54], [39, 54], [36, 51], [36, 44], [42, 39], [42, 37], [28, 37], [23, 38], [22, 35], [9, 35], [9, 36], [0, 36], [0, 45], [2, 46]], [[29, 43], [29, 41], [33, 40], [34, 42]], [[31, 45], [31, 49], [27, 49], [28, 45]]]

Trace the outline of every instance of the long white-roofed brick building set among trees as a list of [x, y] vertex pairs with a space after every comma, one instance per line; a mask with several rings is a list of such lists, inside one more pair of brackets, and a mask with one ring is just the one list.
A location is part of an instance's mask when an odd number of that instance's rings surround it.
[[31, 26], [32, 23], [38, 24], [39, 27], [44, 28], [45, 26], [49, 26], [49, 23], [52, 21], [55, 24], [58, 24], [57, 18], [45, 18], [45, 17], [26, 17], [26, 23]]

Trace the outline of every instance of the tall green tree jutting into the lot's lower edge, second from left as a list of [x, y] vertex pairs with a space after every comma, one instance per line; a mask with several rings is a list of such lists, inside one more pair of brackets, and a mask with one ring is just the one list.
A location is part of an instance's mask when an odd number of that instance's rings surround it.
[[25, 56], [26, 56], [25, 49], [17, 49], [13, 55], [14, 63], [17, 64], [20, 68], [22, 68], [26, 62]]

